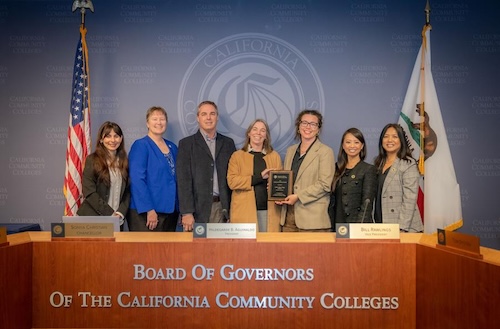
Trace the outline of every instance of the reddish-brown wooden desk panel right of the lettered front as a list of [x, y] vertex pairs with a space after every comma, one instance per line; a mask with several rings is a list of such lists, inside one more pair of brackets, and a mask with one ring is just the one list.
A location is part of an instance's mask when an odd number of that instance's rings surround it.
[[498, 328], [500, 266], [417, 245], [417, 328]]

